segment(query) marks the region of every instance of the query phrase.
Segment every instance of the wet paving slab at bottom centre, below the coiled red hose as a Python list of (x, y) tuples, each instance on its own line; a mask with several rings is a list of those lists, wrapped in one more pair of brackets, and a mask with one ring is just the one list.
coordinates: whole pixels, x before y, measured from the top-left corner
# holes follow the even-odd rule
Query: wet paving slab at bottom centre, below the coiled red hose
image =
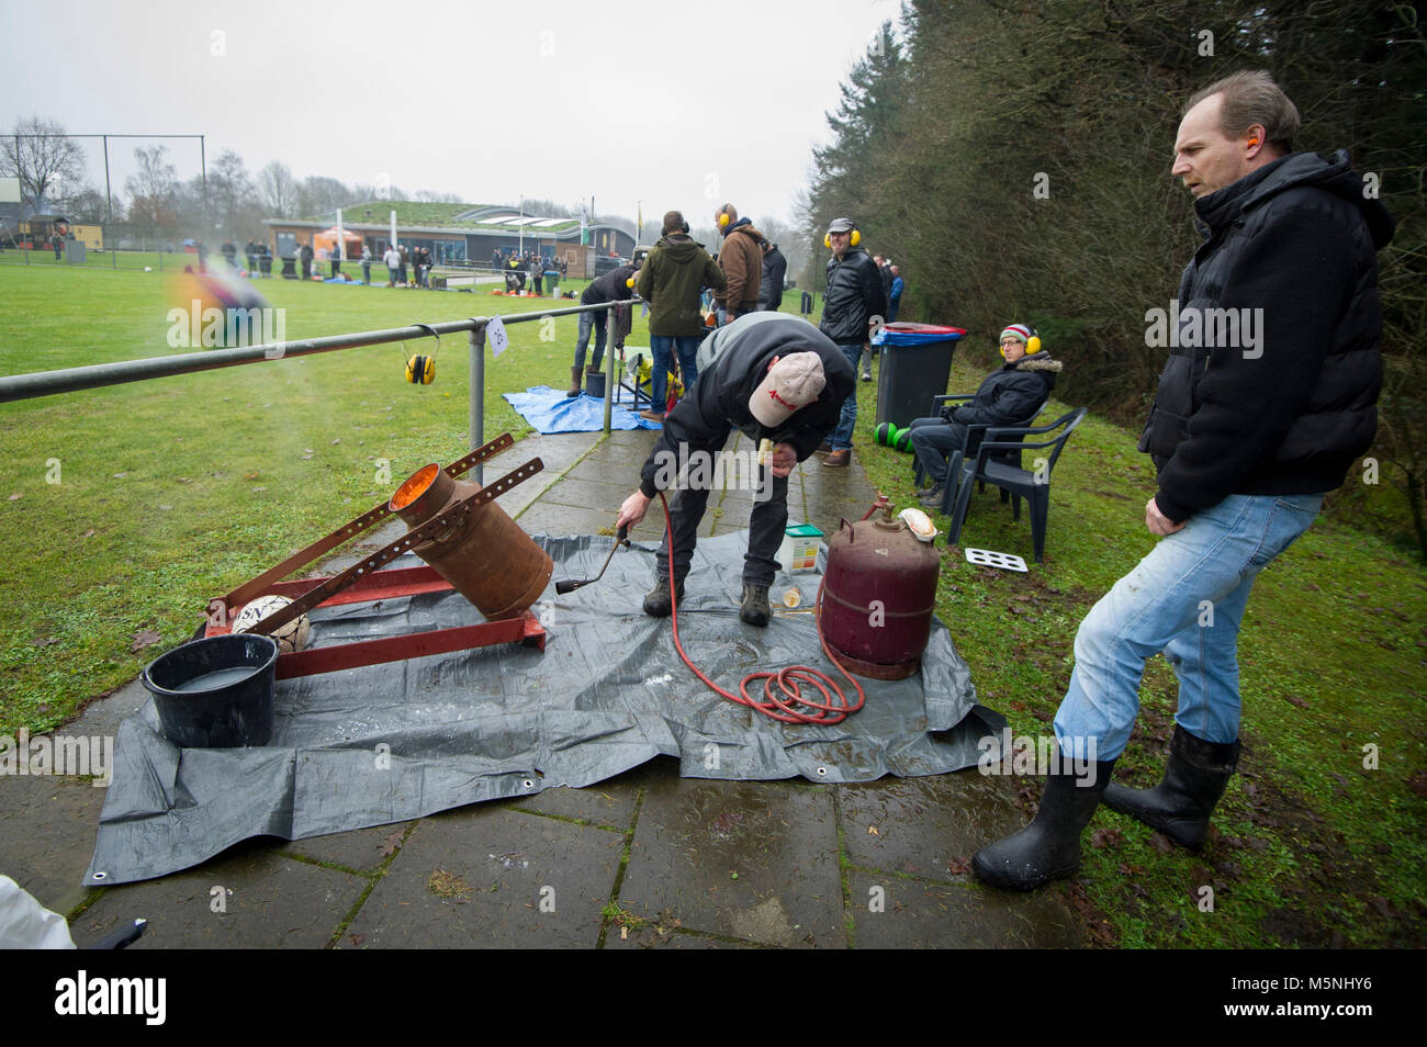
[(831, 790), (791, 782), (651, 780), (619, 907), (785, 947), (843, 944)]

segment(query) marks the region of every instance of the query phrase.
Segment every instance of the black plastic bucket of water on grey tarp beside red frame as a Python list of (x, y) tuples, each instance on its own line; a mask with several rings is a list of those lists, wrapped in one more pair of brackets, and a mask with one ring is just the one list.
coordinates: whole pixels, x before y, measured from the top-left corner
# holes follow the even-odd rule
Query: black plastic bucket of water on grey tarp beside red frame
[(277, 640), (244, 632), (174, 648), (150, 662), (141, 679), (170, 742), (233, 749), (273, 737), (275, 673)]

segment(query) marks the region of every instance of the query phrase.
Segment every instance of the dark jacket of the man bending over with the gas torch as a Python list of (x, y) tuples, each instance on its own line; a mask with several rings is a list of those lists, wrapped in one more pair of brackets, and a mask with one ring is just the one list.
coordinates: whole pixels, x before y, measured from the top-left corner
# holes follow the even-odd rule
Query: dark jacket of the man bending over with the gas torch
[[(719, 451), (733, 429), (755, 439), (789, 444), (798, 461), (806, 461), (838, 427), (842, 401), (856, 388), (856, 375), (842, 351), (798, 317), (749, 312), (722, 328), (726, 341), (714, 365), (699, 374), (694, 392), (674, 405), (664, 418), (664, 432), (645, 459), (639, 489), (654, 498), (659, 464), (675, 461), (679, 445), (689, 451)], [(776, 429), (766, 429), (748, 409), (748, 398), (768, 374), (773, 357), (816, 352), (828, 384), (808, 407), (793, 411)]]

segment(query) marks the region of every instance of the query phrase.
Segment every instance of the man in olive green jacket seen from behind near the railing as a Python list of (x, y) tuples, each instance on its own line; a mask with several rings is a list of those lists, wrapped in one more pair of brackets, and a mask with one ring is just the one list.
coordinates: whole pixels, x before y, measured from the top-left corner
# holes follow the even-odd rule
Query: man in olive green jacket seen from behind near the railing
[(678, 211), (664, 215), (664, 235), (649, 251), (635, 290), (649, 302), (649, 351), (654, 355), (649, 377), (651, 404), (641, 417), (664, 424), (668, 397), (668, 375), (672, 352), (679, 354), (679, 374), (684, 391), (694, 388), (699, 377), (694, 355), (699, 348), (704, 317), (699, 314), (699, 291), (712, 287), (722, 292), (728, 278), (708, 251), (689, 237), (689, 224)]

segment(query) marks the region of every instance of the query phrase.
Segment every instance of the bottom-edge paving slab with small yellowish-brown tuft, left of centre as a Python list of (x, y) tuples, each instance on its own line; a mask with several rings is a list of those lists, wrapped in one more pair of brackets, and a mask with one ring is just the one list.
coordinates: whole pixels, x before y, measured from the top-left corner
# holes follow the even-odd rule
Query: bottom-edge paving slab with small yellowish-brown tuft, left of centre
[(338, 947), (591, 949), (624, 836), (478, 805), (421, 819)]

